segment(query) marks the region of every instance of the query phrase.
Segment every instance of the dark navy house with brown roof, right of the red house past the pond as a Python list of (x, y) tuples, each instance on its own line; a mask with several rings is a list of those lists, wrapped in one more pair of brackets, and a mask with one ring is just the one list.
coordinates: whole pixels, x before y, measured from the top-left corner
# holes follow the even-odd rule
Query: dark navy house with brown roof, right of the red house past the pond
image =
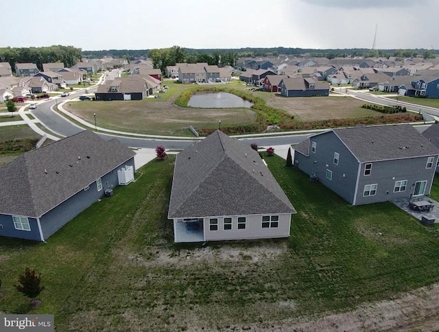
[(283, 78), (278, 84), (278, 92), (284, 97), (328, 96), (329, 84), (313, 78)]

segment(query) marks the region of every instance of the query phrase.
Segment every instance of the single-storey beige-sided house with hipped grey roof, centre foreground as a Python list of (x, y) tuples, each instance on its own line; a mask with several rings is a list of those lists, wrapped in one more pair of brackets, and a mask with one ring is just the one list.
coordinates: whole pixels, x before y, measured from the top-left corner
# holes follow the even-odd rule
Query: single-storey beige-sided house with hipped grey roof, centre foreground
[(174, 241), (289, 237), (291, 202), (259, 154), (217, 130), (176, 156)]

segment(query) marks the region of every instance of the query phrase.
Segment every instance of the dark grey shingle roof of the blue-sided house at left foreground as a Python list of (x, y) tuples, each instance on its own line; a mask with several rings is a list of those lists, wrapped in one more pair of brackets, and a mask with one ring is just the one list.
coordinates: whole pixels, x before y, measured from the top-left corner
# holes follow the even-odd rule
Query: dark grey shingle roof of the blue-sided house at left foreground
[(40, 217), (132, 156), (88, 130), (26, 152), (0, 167), (0, 213)]

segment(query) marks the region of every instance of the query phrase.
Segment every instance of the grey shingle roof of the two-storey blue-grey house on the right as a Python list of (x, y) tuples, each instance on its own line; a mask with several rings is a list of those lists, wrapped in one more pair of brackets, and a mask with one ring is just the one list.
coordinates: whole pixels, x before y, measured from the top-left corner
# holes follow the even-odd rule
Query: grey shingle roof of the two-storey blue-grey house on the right
[(360, 162), (439, 154), (438, 147), (410, 124), (333, 129)]

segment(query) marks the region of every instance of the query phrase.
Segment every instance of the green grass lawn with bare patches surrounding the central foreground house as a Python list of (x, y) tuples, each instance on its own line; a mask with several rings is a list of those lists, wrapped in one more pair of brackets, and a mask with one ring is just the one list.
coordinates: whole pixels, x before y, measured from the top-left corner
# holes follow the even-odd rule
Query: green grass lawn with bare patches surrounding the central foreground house
[(30, 312), (54, 313), (60, 331), (287, 327), (438, 281), (436, 228), (391, 203), (350, 206), (283, 159), (265, 160), (298, 211), (289, 239), (172, 244), (174, 157), (152, 161), (46, 244), (2, 239), (0, 311), (29, 311), (12, 287), (25, 267), (46, 287)]

